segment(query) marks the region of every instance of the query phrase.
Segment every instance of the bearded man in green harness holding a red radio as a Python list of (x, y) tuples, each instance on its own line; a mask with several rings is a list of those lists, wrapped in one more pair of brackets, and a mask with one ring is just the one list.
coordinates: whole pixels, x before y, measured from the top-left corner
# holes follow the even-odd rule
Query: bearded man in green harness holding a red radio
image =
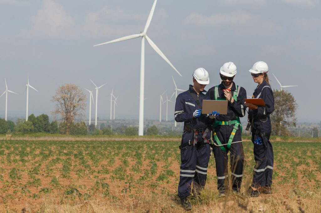
[(229, 185), (228, 153), (230, 152), (232, 190), (239, 193), (243, 171), (244, 151), (242, 145), (242, 125), (244, 117), (246, 91), (234, 83), (237, 68), (233, 62), (226, 62), (220, 70), (222, 83), (208, 90), (211, 100), (228, 100), (226, 115), (220, 114), (213, 123), (213, 153), (215, 157), (217, 188), (224, 196)]

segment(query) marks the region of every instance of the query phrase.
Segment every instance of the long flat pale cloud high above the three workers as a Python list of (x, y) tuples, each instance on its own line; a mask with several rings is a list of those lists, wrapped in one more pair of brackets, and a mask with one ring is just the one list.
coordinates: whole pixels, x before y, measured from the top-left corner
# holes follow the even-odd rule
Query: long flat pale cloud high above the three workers
[(250, 25), (255, 20), (255, 16), (236, 11), (231, 13), (216, 13), (210, 16), (193, 12), (184, 21), (187, 25), (197, 26), (229, 26), (229, 27), (242, 27)]

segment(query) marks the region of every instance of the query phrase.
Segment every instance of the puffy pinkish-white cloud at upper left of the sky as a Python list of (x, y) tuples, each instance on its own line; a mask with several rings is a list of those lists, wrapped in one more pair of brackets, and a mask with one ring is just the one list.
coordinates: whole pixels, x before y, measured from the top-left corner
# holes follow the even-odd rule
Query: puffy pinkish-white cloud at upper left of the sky
[(74, 26), (74, 20), (67, 15), (62, 5), (53, 0), (43, 0), (41, 9), (31, 17), (31, 23), (33, 24), (30, 31), (32, 35), (73, 36), (70, 29)]

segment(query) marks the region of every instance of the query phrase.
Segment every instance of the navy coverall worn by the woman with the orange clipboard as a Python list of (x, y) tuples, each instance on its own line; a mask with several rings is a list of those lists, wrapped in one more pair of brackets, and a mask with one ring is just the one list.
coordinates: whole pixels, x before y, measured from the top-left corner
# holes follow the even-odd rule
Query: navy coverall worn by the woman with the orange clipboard
[[(270, 85), (265, 80), (255, 89), (253, 98), (263, 99), (266, 105), (248, 110), (249, 119), (252, 122), (253, 153), (256, 163), (251, 186), (258, 188), (271, 186), (273, 174), (273, 147), (269, 140), (272, 127), (269, 115), (274, 111), (274, 97)], [(258, 137), (262, 138), (262, 145), (254, 143)]]

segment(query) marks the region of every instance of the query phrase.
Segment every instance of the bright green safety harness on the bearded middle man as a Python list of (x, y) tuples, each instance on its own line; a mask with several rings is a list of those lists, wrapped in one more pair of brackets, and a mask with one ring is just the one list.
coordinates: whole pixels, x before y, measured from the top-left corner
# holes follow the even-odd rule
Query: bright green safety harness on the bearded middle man
[[(233, 99), (235, 101), (237, 101), (238, 96), (239, 96), (240, 87), (238, 85), (235, 85), (235, 86), (236, 86), (236, 90), (233, 92)], [(214, 98), (215, 98), (215, 100), (226, 100), (226, 99), (219, 99), (218, 97), (219, 97), (219, 85), (215, 86)], [(229, 126), (231, 126), (233, 124), (234, 124), (233, 130), (231, 132), (229, 141), (228, 141), (228, 143), (226, 145), (227, 149), (229, 149), (229, 150), (230, 150), (233, 138), (235, 136), (235, 133), (239, 129), (239, 126), (241, 127), (241, 132), (242, 132), (242, 125), (241, 125), (241, 121), (239, 119), (239, 116), (236, 114), (236, 120), (233, 120), (233, 121), (215, 121), (214, 124), (213, 124), (213, 129), (215, 129), (215, 127), (220, 126), (220, 125), (229, 125)], [(217, 137), (216, 132), (214, 130), (213, 130), (213, 138), (216, 141), (216, 143), (220, 146), (221, 150), (223, 152), (226, 152), (225, 147), (222, 146), (222, 143), (221, 143), (220, 139)]]

